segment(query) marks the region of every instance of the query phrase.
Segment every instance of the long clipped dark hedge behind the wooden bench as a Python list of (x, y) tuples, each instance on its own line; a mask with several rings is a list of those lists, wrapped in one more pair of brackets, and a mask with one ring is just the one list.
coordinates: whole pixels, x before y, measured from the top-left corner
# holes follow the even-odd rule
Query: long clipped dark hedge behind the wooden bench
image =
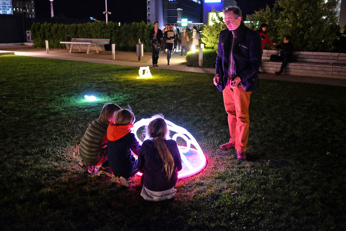
[(34, 46), (45, 47), (45, 40), (49, 47), (66, 48), (60, 41), (70, 42), (72, 38), (110, 39), (117, 50), (135, 51), (138, 39), (144, 45), (144, 51), (150, 52), (149, 32), (154, 27), (145, 22), (133, 22), (119, 26), (115, 22), (88, 22), (84, 24), (52, 24), (34, 23), (31, 27)]

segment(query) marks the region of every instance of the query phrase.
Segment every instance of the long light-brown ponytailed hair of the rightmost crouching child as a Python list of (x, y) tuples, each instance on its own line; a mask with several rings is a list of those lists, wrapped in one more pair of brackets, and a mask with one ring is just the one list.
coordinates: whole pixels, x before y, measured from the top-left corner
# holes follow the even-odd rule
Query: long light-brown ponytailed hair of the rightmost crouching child
[(156, 115), (155, 117), (158, 118), (151, 121), (147, 127), (147, 135), (153, 138), (154, 146), (159, 151), (160, 157), (164, 162), (164, 168), (162, 171), (165, 170), (167, 179), (170, 180), (174, 170), (174, 160), (170, 150), (168, 150), (165, 142), (163, 141), (166, 139), (169, 131), (163, 116)]

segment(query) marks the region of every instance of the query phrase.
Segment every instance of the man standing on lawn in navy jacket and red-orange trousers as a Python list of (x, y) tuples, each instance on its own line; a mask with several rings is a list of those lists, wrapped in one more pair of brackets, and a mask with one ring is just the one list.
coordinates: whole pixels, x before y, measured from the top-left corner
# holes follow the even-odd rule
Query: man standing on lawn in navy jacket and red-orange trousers
[(237, 158), (245, 160), (250, 95), (259, 86), (262, 46), (259, 33), (242, 22), (239, 8), (226, 7), (223, 13), (228, 30), (219, 35), (214, 84), (223, 95), (230, 139), (220, 148), (235, 147)]

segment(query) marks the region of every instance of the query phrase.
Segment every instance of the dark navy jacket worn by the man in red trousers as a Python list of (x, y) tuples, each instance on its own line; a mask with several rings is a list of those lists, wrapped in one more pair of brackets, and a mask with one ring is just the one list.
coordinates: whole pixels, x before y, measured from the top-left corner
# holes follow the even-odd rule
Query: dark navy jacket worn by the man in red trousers
[[(230, 65), (230, 51), (232, 45), (232, 32), (228, 29), (220, 32), (218, 39), (215, 75), (220, 75), (216, 86), (222, 92), (226, 87)], [(233, 41), (233, 59), (235, 74), (241, 79), (240, 85), (246, 92), (255, 91), (259, 86), (259, 66), (261, 62), (260, 35), (241, 22), (238, 35)], [(234, 78), (233, 78), (234, 79)]]

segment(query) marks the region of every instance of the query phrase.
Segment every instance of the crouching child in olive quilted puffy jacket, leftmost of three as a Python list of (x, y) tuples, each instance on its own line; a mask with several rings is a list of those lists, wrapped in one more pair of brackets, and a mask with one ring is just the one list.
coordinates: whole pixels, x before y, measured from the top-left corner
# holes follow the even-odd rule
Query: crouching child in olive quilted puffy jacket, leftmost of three
[(82, 160), (78, 165), (88, 173), (95, 173), (95, 167), (101, 165), (97, 175), (112, 177), (112, 171), (107, 161), (107, 128), (114, 121), (115, 113), (121, 107), (114, 103), (103, 105), (100, 117), (88, 126), (79, 145), (79, 154)]

